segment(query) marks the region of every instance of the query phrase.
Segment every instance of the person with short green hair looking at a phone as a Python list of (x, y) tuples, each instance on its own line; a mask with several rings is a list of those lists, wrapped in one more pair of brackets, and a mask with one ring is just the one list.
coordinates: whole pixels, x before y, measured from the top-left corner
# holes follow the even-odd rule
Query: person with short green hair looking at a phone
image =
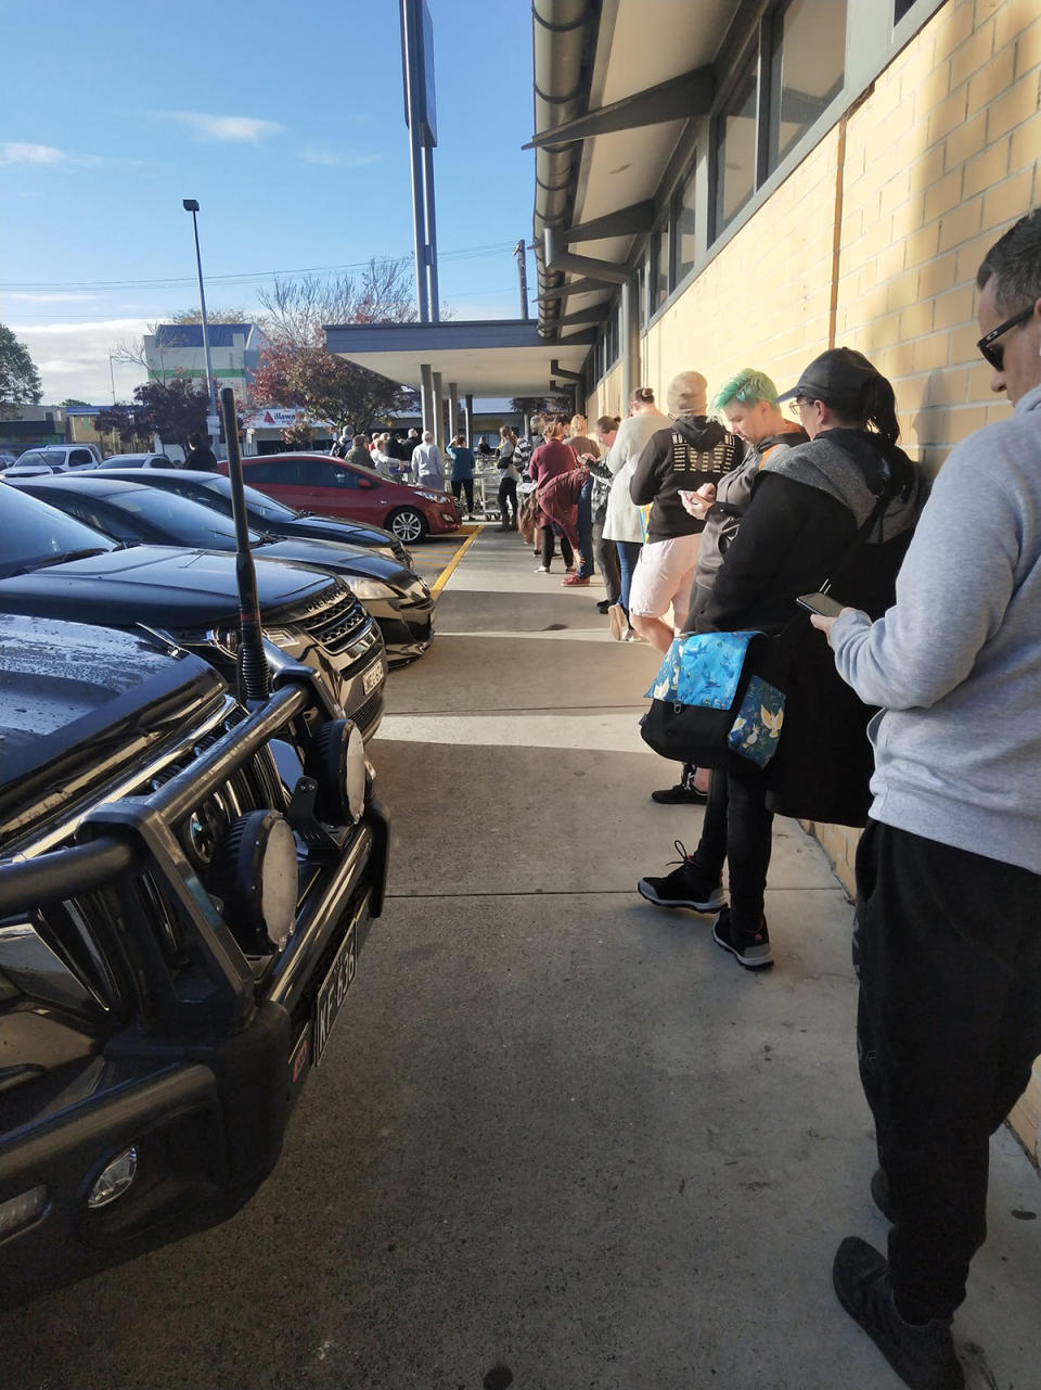
[[(777, 386), (764, 371), (742, 367), (720, 386), (712, 399), (712, 409), (721, 410), (727, 417), (731, 434), (745, 442), (745, 456), (731, 473), (719, 482), (706, 482), (694, 496), (684, 499), (687, 510), (705, 520), (698, 569), (691, 589), (691, 603), (687, 609), (687, 630), (692, 631), (694, 620), (709, 602), (712, 584), (723, 556), (738, 534), (741, 517), (752, 500), (752, 484), (766, 459), (776, 452), (803, 443), (806, 434), (791, 420), (785, 420), (777, 404)], [(684, 770), (675, 787), (663, 787), (650, 792), (650, 799), (666, 806), (703, 805), (709, 790), (705, 771), (699, 774), (692, 763), (684, 763)], [(641, 880), (648, 883), (649, 880)], [(641, 888), (641, 892), (644, 890)], [(648, 894), (644, 894), (648, 897)], [(653, 898), (650, 899), (655, 901)]]

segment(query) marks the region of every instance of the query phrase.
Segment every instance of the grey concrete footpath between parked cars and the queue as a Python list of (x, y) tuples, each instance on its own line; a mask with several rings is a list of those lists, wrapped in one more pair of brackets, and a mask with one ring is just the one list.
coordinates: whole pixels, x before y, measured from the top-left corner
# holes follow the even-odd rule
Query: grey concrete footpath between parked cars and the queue
[[(884, 1247), (851, 906), (778, 821), (771, 972), (635, 892), (700, 812), (637, 720), (657, 666), (486, 528), (372, 756), (391, 898), (274, 1177), (227, 1226), (0, 1318), (13, 1387), (896, 1390), (839, 1309)], [(1041, 1186), (992, 1145), (956, 1323), (1041, 1383)], [(17, 1348), (17, 1350), (15, 1350)]]

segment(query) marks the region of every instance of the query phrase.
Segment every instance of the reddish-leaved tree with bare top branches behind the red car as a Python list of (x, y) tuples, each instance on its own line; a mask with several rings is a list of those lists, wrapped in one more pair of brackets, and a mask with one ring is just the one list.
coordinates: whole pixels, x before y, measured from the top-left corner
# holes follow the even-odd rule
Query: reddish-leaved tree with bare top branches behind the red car
[(297, 428), (328, 420), (368, 431), (388, 414), (416, 409), (414, 391), (329, 353), (324, 334), (325, 324), (413, 322), (406, 261), (372, 260), (360, 281), (275, 277), (257, 297), (267, 311), (261, 328), (268, 346), (253, 377), (256, 400), (303, 410)]

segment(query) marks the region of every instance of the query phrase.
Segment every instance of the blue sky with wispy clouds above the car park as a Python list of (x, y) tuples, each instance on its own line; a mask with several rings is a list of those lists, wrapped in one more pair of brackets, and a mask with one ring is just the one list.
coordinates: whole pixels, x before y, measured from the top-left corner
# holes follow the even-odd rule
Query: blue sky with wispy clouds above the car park
[[(441, 300), (516, 317), (531, 11), (428, 3)], [(110, 400), (110, 349), (197, 304), (183, 197), (202, 208), (210, 310), (257, 307), (274, 271), (411, 256), (396, 0), (8, 0), (3, 38), (0, 321), (44, 402)], [(142, 374), (114, 370), (129, 399)]]

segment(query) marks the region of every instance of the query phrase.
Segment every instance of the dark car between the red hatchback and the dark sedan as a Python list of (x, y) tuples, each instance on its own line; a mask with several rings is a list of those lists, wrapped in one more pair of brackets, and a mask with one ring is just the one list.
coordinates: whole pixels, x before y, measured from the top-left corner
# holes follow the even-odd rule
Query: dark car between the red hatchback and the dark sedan
[[(99, 468), (99, 477), (125, 478), (139, 482), (135, 471), (122, 473), (111, 467), (111, 459), (106, 460), (104, 468)], [(165, 492), (177, 492), (179, 498), (190, 498), (192, 502), (202, 502), (213, 507), (222, 516), (229, 517), (231, 510), (231, 481), (220, 473), (200, 473), (183, 468), (151, 468), (149, 471), (149, 486), (163, 488)], [(375, 549), (388, 560), (397, 560), (406, 570), (411, 570), (411, 552), (406, 550), (402, 542), (391, 531), (384, 531), (378, 525), (364, 525), (361, 521), (345, 521), (342, 517), (317, 517), (311, 512), (296, 512), (293, 507), (275, 502), (256, 488), (245, 488), (246, 516), (249, 524), (257, 531), (267, 531), (268, 535), (293, 537), (306, 535), (314, 541), (339, 541), (342, 545), (364, 545)]]

